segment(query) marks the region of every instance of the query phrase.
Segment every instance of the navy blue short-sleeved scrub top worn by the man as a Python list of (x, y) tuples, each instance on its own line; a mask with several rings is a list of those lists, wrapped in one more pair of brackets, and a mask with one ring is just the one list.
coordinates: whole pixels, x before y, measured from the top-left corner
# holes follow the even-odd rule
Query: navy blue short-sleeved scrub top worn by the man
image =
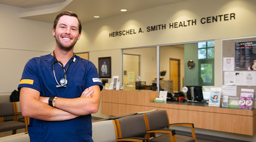
[[(86, 88), (93, 85), (99, 85), (102, 90), (95, 65), (77, 55), (66, 73), (67, 87), (56, 88), (58, 84), (52, 70), (53, 61), (51, 54), (30, 59), (24, 67), (18, 90), (21, 87), (29, 87), (38, 90), (40, 96), (55, 95), (61, 98), (78, 98)], [(69, 62), (65, 65), (65, 70)], [(59, 82), (64, 76), (64, 70), (58, 63), (54, 64), (54, 70)], [(58, 122), (30, 118), (28, 131), (32, 142), (93, 142), (90, 114)]]

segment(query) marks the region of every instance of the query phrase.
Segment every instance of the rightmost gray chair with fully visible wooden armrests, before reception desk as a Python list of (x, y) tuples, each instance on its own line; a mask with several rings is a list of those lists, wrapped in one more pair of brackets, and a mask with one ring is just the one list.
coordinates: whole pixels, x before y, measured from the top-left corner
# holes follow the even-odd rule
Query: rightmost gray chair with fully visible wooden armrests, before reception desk
[[(195, 129), (194, 125), (191, 123), (177, 123), (177, 124), (169, 124), (169, 118), (166, 110), (157, 110), (150, 113), (145, 113), (146, 122), (147, 122), (147, 132), (148, 133), (168, 133), (160, 136), (154, 136), (154, 138), (150, 139), (150, 142), (196, 142), (195, 138)], [(170, 126), (174, 125), (183, 125), (190, 126), (192, 131), (192, 137), (182, 136), (182, 135), (174, 135), (175, 133), (169, 133), (168, 130)], [(149, 139), (149, 137), (148, 137)]]

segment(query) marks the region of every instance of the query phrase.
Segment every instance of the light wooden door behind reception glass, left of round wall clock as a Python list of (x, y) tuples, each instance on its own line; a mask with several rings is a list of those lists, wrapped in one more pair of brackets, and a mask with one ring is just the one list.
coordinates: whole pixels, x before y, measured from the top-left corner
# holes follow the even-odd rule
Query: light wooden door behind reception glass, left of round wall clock
[(173, 91), (180, 90), (180, 60), (170, 58), (170, 80), (173, 82)]

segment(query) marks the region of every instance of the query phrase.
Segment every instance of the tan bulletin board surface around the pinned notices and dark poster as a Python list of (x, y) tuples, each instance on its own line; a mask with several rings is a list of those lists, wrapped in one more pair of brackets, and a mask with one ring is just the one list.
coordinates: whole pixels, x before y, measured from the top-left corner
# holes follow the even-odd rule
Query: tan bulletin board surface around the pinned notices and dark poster
[[(243, 39), (233, 39), (233, 40), (223, 40), (222, 41), (222, 61), (225, 57), (233, 57), (235, 59), (235, 67), (236, 67), (236, 43), (240, 42), (252, 42), (256, 41), (256, 38), (243, 38)], [(223, 64), (223, 63), (222, 63)], [(250, 70), (236, 70), (234, 67), (234, 71), (250, 71)], [(255, 70), (254, 70), (255, 71)], [(224, 71), (222, 67), (222, 85), (224, 85)], [(239, 98), (241, 94), (241, 88), (244, 89), (254, 89), (254, 99), (256, 99), (256, 86), (236, 86), (236, 97)], [(231, 96), (230, 96), (231, 97)]]

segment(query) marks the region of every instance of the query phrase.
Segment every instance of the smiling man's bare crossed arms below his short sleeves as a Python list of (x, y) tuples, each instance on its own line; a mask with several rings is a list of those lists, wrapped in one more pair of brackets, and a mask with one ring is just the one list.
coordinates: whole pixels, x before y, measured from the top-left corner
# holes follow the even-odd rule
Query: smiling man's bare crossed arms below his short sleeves
[(48, 104), (49, 97), (41, 97), (37, 90), (22, 87), (20, 89), (20, 107), (23, 116), (46, 121), (63, 121), (81, 115), (96, 113), (100, 103), (98, 85), (84, 90), (80, 98), (57, 98), (55, 107)]

